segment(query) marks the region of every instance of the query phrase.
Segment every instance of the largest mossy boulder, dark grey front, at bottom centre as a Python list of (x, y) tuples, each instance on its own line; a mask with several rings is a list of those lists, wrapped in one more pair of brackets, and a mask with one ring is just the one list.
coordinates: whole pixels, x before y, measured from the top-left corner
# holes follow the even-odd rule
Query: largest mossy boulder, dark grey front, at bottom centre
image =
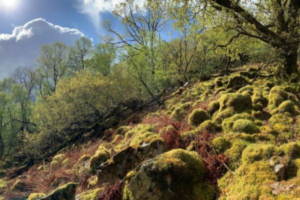
[(134, 199), (213, 199), (214, 192), (204, 183), (204, 175), (197, 153), (174, 149), (142, 164), (127, 189)]

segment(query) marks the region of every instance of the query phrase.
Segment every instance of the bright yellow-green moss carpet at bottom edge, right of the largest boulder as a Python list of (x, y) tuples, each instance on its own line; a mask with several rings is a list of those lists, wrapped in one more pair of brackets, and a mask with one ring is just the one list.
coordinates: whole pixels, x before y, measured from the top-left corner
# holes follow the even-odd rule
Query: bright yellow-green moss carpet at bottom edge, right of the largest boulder
[(267, 161), (256, 161), (241, 165), (234, 173), (218, 180), (220, 190), (224, 191), (219, 199), (249, 200), (259, 199), (265, 192), (265, 184), (277, 180), (277, 176)]

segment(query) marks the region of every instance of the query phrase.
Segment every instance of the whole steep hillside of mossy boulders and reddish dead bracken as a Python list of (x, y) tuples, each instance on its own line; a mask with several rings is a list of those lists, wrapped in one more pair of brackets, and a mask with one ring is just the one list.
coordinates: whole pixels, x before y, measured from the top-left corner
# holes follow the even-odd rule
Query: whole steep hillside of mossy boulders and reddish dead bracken
[(65, 148), (16, 178), (8, 173), (0, 195), (299, 199), (300, 81), (260, 69), (169, 88), (165, 104), (138, 123)]

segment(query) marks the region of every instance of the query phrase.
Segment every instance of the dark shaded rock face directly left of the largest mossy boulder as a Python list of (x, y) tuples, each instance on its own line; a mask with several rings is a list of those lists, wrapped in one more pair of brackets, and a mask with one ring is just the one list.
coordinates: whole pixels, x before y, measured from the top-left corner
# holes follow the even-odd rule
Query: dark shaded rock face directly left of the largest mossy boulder
[(114, 183), (146, 158), (155, 157), (166, 150), (163, 140), (142, 143), (138, 147), (128, 146), (117, 152), (98, 167), (98, 183)]

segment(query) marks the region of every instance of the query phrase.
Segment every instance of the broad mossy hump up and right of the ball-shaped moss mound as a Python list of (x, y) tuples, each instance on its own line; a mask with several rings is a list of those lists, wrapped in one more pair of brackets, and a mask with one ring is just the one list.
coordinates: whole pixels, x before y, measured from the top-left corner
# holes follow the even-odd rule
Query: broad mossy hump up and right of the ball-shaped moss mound
[(252, 100), (250, 95), (240, 93), (228, 93), (219, 98), (220, 109), (232, 108), (236, 112), (242, 112), (252, 108)]

